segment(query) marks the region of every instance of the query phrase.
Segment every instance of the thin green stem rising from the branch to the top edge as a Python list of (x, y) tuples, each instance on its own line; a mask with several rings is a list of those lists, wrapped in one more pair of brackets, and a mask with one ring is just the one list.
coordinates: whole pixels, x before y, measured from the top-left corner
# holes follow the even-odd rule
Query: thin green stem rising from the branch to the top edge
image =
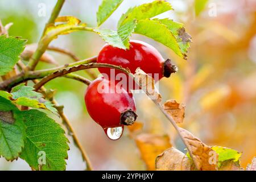
[(45, 33), (47, 27), (49, 26), (49, 24), (54, 23), (57, 16), (59, 16), (60, 10), (63, 7), (64, 2), (65, 2), (65, 0), (58, 0), (55, 7), (53, 8), (52, 14), (51, 14), (51, 16), (48, 20), (48, 23), (44, 27), (43, 34), (42, 34), (42, 36), (40, 38), (40, 41), (38, 43), (38, 48), (36, 49), (35, 53), (32, 55), (30, 61), (27, 64), (27, 69), (28, 70), (34, 70), (36, 65), (39, 62), (40, 57), (43, 55), (44, 52), (46, 52), (46, 48), (48, 47), (49, 43), (47, 44), (47, 43), (43, 42), (44, 33)]

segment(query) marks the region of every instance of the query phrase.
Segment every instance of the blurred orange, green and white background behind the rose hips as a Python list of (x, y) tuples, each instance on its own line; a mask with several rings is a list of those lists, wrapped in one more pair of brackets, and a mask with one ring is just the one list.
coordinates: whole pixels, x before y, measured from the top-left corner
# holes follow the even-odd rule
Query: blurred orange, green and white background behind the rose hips
[[(55, 2), (1, 0), (0, 19), (3, 24), (14, 23), (10, 28), (10, 35), (28, 39), (28, 44), (36, 43)], [(146, 2), (151, 1), (123, 1), (102, 27), (115, 30), (122, 13), (129, 7)], [(185, 24), (193, 42), (188, 60), (180, 59), (171, 49), (154, 40), (140, 35), (133, 35), (132, 39), (152, 44), (164, 59), (171, 58), (179, 67), (175, 75), (160, 80), (159, 91), (163, 101), (174, 99), (186, 106), (185, 119), (180, 126), (208, 145), (241, 151), (241, 166), (246, 167), (256, 156), (256, 1), (168, 2), (175, 11), (168, 11), (158, 17), (168, 17)], [(100, 3), (101, 0), (67, 0), (60, 15), (74, 15), (95, 27)], [(44, 5), (46, 16), (39, 14), (39, 9)], [(59, 36), (51, 46), (69, 49), (80, 59), (85, 59), (97, 55), (104, 44), (92, 32), (73, 32)], [(72, 62), (67, 56), (48, 53), (60, 65)], [(50, 67), (52, 65), (40, 63), (37, 69)], [(98, 74), (97, 70), (94, 72)], [(84, 72), (79, 73), (89, 78)], [(64, 112), (88, 152), (94, 169), (154, 169), (154, 161), (148, 159), (150, 152), (154, 153), (150, 147), (154, 146), (160, 146), (160, 150), (157, 150), (159, 154), (170, 145), (185, 152), (183, 143), (170, 123), (144, 94), (134, 95), (139, 115), (138, 124), (130, 130), (125, 128), (122, 138), (112, 141), (86, 112), (85, 85), (67, 78), (57, 78), (46, 86), (56, 90), (55, 98), (60, 105), (64, 105)], [(54, 115), (51, 117), (61, 123), (60, 118)], [(163, 139), (170, 144), (162, 146)], [(84, 170), (85, 164), (80, 151), (74, 146), (71, 137), (69, 140), (71, 150), (68, 151), (67, 169)], [(146, 145), (143, 146), (143, 143)], [(152, 155), (155, 158), (158, 154)], [(30, 170), (30, 167), (22, 159), (11, 163), (0, 158), (0, 170)]]

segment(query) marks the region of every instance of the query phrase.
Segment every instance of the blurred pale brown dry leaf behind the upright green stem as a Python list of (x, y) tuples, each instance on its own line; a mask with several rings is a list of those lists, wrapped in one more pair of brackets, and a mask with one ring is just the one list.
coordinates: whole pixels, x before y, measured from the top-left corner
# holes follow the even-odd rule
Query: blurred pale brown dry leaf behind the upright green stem
[[(20, 57), (23, 60), (29, 60), (32, 57), (32, 55), (34, 54), (34, 52), (36, 51), (36, 47), (37, 47), (37, 44), (27, 45), (26, 48), (24, 49), (24, 51), (22, 52), (22, 54), (20, 55)], [(40, 61), (49, 63), (49, 64), (58, 65), (56, 60), (48, 53), (44, 53), (42, 55), (42, 57), (40, 57)]]

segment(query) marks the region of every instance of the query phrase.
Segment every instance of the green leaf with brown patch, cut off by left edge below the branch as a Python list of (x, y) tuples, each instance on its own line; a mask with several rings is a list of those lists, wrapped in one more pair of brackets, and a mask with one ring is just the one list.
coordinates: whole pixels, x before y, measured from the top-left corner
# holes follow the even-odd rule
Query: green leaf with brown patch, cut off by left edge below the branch
[(0, 156), (6, 160), (17, 159), (24, 147), (26, 126), (18, 108), (0, 97)]

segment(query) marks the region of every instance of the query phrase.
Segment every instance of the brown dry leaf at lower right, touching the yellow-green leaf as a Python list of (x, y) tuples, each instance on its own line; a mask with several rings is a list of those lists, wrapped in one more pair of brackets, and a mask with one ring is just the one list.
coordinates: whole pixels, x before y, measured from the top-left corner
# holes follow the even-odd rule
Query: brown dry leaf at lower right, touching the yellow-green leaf
[(188, 150), (192, 153), (191, 158), (196, 168), (201, 171), (217, 171), (218, 154), (189, 131), (181, 127), (179, 127), (179, 131), (189, 147)]

